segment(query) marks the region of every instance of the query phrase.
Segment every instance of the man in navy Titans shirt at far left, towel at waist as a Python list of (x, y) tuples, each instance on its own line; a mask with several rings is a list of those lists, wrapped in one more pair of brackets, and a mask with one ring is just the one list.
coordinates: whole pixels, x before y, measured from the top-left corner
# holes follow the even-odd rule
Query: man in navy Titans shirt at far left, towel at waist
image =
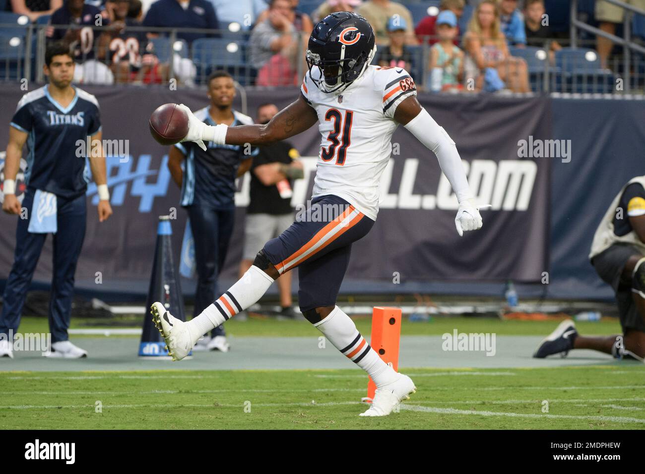
[[(99, 104), (94, 95), (72, 87), (74, 59), (69, 47), (53, 43), (45, 52), (49, 84), (23, 95), (9, 127), (6, 148), (3, 210), (20, 216), (15, 260), (3, 295), (0, 333), (15, 334), (29, 287), (48, 233), (54, 233), (54, 275), (49, 325), (54, 357), (86, 357), (68, 341), (67, 328), (74, 295), (74, 273), (83, 246), (89, 170), (85, 147), (92, 139), (90, 168), (99, 193), (99, 221), (112, 214), (106, 185)], [(98, 141), (98, 142), (97, 142)], [(26, 191), (22, 204), (15, 197), (15, 177), (27, 144)], [(81, 153), (79, 153), (81, 150)], [(94, 156), (99, 155), (99, 156)], [(11, 342), (0, 341), (0, 357), (12, 356)]]

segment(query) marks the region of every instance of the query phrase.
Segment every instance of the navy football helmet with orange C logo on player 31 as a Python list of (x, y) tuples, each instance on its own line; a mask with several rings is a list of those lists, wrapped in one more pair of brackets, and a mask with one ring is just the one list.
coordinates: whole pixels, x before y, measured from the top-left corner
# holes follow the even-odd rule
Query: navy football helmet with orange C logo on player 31
[[(374, 32), (366, 19), (352, 12), (332, 13), (309, 37), (309, 77), (322, 92), (341, 91), (361, 77), (375, 53)], [(317, 69), (312, 72), (313, 66)]]

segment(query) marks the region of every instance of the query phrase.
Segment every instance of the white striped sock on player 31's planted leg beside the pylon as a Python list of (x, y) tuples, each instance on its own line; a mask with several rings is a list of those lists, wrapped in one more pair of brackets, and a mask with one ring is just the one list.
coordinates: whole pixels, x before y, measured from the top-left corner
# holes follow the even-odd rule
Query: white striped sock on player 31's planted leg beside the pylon
[(363, 339), (352, 319), (338, 306), (323, 321), (313, 326), (321, 331), (335, 348), (366, 371), (377, 387), (397, 380), (397, 373)]

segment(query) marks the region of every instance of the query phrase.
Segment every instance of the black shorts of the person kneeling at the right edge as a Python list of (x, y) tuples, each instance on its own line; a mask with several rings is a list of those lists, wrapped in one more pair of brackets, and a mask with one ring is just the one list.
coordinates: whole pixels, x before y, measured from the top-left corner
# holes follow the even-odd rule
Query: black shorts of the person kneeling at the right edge
[(645, 321), (632, 298), (631, 281), (621, 278), (625, 264), (633, 255), (643, 256), (638, 248), (630, 244), (613, 244), (591, 259), (600, 278), (613, 288), (623, 333), (628, 329), (645, 332)]

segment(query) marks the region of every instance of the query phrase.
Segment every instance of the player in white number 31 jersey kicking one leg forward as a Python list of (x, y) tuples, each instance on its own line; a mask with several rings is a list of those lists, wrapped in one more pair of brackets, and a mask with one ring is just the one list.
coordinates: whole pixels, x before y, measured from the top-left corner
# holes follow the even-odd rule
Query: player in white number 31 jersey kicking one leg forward
[(350, 12), (333, 13), (315, 26), (309, 39), (309, 71), (301, 94), (268, 124), (207, 126), (184, 106), (190, 118), (184, 141), (200, 146), (204, 141), (262, 145), (297, 135), (315, 123), (322, 140), (312, 204), (304, 219), (266, 242), (248, 272), (191, 321), (179, 321), (163, 304), (153, 304), (153, 319), (174, 360), (186, 357), (202, 335), (258, 301), (281, 273), (298, 267), (304, 317), (377, 386), (372, 405), (362, 415), (389, 415), (415, 391), (410, 377), (381, 360), (352, 319), (336, 306), (352, 242), (366, 235), (376, 219), (379, 179), (399, 124), (437, 155), (459, 201), (455, 217), (459, 235), (481, 228), (482, 218), (455, 143), (421, 107), (415, 83), (405, 70), (370, 65), (375, 51), (366, 19)]

